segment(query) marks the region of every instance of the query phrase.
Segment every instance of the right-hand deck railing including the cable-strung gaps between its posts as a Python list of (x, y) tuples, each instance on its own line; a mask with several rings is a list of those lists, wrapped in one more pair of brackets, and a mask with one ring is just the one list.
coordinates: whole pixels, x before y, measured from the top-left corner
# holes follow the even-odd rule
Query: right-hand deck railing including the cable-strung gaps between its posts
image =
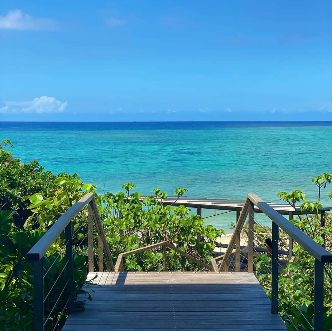
[[(290, 324), (294, 330), (303, 330), (301, 323), (305, 326), (306, 330), (313, 329), (314, 331), (323, 330), (323, 300), (324, 300), (324, 264), (332, 262), (332, 254), (328, 252), (325, 248), (316, 243), (313, 239), (304, 234), (299, 228), (290, 223), (285, 217), (279, 214), (275, 209), (269, 206), (266, 202), (262, 201), (255, 194), (248, 194), (247, 199), (243, 204), (241, 213), (237, 215), (237, 224), (234, 229), (233, 236), (230, 240), (226, 252), (222, 257), (216, 257), (212, 259), (212, 267), (214, 271), (240, 271), (240, 259), (241, 262), (247, 259), (247, 264), (244, 268), (241, 268), (248, 271), (257, 273), (256, 264), (262, 260), (261, 251), (257, 250), (257, 244), (254, 242), (256, 239), (259, 242), (264, 242), (263, 233), (256, 233), (254, 223), (257, 223), (262, 227), (259, 222), (254, 218), (254, 206), (256, 206), (260, 212), (265, 213), (272, 220), (272, 231), (271, 231), (271, 241), (272, 247), (270, 250), (270, 260), (271, 262), (265, 263), (265, 276), (260, 271), (258, 277), (264, 280), (263, 284), (266, 285), (266, 289), (271, 296), (271, 312), (273, 314), (281, 313), (284, 316), (284, 321)], [(247, 253), (243, 254), (240, 250), (240, 241), (243, 239), (244, 233), (244, 224), (249, 215), (249, 220), (247, 224), (247, 238), (246, 243)], [(241, 237), (242, 233), (242, 237)], [(286, 261), (286, 270), (285, 265), (279, 260), (280, 254), (285, 254), (285, 251), (280, 251), (279, 248), (283, 248), (286, 251), (292, 253), (290, 247), (287, 247), (285, 244), (285, 238), (283, 236), (287, 234), (290, 237), (290, 243), (296, 243), (307, 256), (310, 256), (314, 259), (314, 268), (310, 274), (310, 267), (304, 268), (299, 263), (294, 261), (293, 256), (290, 256), (291, 261)], [(270, 234), (269, 234), (270, 235)], [(281, 235), (281, 237), (280, 237)], [(280, 244), (280, 240), (281, 243)], [(259, 246), (259, 245), (258, 245)], [(235, 254), (233, 249), (235, 248)], [(260, 257), (261, 256), (261, 257)], [(234, 263), (235, 257), (235, 263)], [(221, 263), (218, 265), (216, 262), (221, 260)], [(265, 259), (264, 259), (265, 260)], [(270, 264), (271, 263), (271, 264)], [(261, 265), (261, 264), (260, 264)], [(288, 267), (287, 267), (288, 266)], [(313, 289), (313, 295), (309, 293), (310, 291), (305, 290), (304, 292), (299, 284), (296, 283), (298, 280), (297, 276), (294, 276), (294, 269), (292, 266), (296, 266), (297, 270), (300, 270), (302, 273), (305, 273), (305, 280), (309, 283), (307, 286), (309, 289)], [(279, 274), (279, 269), (281, 269), (281, 274)], [(285, 271), (285, 272), (284, 272)], [(327, 272), (327, 271), (326, 271)], [(286, 280), (286, 283), (289, 286), (284, 289), (282, 284), (280, 284), (280, 277), (284, 277), (283, 280)], [(311, 315), (305, 313), (298, 306), (292, 306), (291, 303), (295, 296), (300, 296), (303, 303), (309, 305), (312, 304), (312, 315), (313, 321), (311, 321)], [(287, 309), (285, 309), (285, 305)], [(308, 306), (307, 306), (308, 308)], [(291, 311), (291, 313), (290, 313)], [(300, 317), (302, 321), (294, 322), (294, 317), (292, 313)]]

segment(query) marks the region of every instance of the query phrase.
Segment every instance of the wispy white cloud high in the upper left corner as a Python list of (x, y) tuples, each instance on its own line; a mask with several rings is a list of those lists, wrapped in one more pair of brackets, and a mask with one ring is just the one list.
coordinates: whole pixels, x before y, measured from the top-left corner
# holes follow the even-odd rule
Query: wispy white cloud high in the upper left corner
[(0, 15), (0, 28), (13, 30), (54, 30), (56, 22), (50, 19), (35, 19), (20, 9), (10, 10), (7, 16)]

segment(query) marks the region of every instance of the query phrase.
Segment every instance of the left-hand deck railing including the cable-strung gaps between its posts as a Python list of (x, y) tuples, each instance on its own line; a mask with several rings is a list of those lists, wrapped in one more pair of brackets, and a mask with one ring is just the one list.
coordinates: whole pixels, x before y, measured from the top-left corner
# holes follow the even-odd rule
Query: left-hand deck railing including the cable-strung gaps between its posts
[[(87, 211), (85, 207), (88, 207)], [(80, 215), (82, 224), (73, 232), (71, 220), (77, 215)], [(88, 226), (84, 228), (86, 221), (83, 218), (86, 216)], [(94, 222), (95, 227), (93, 226)], [(98, 260), (93, 246), (94, 229), (98, 236)], [(87, 230), (84, 231), (86, 232), (84, 236), (82, 234), (83, 230)], [(54, 260), (46, 270), (44, 260), (47, 259), (48, 262), (47, 251), (55, 241), (58, 241), (59, 237), (61, 238), (63, 232), (65, 253), (57, 252), (57, 256), (50, 255), (49, 257)], [(58, 242), (61, 244), (61, 240)], [(56, 330), (60, 328), (63, 315), (74, 311), (74, 286), (76, 283), (74, 284), (73, 279), (73, 263), (75, 263), (78, 254), (87, 256), (82, 268), (88, 268), (89, 272), (97, 270), (96, 266), (102, 267), (100, 271), (104, 270), (104, 256), (107, 268), (114, 271), (111, 253), (107, 246), (94, 194), (92, 193), (84, 195), (70, 207), (27, 254), (28, 260), (34, 261), (34, 330), (44, 330), (44, 328)], [(96, 258), (96, 263), (94, 258)], [(63, 265), (61, 265), (62, 261)], [(54, 275), (51, 270), (54, 266), (57, 266), (56, 262), (61, 265), (61, 270)], [(85, 281), (82, 280), (83, 274), (86, 274), (86, 272), (81, 273), (80, 283), (77, 284)], [(46, 289), (46, 287), (49, 287), (49, 289)], [(46, 295), (45, 290), (47, 291)], [(48, 311), (46, 312), (46, 310)]]

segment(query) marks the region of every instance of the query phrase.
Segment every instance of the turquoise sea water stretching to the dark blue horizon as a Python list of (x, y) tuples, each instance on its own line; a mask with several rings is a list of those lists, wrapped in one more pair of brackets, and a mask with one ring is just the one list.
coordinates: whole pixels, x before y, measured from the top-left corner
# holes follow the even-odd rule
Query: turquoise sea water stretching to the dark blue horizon
[[(143, 194), (186, 187), (188, 196), (250, 192), (279, 202), (278, 192), (301, 189), (314, 199), (311, 178), (332, 172), (332, 122), (0, 122), (0, 130), (14, 156), (77, 172), (99, 193), (133, 182)], [(226, 232), (234, 220), (233, 212), (207, 218)]]

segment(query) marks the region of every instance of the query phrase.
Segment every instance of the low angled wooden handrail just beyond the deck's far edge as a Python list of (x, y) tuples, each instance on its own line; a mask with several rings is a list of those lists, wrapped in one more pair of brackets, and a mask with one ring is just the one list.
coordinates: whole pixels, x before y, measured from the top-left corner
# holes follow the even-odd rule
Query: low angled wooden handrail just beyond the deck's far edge
[(144, 247), (141, 247), (141, 248), (137, 248), (137, 249), (129, 250), (127, 252), (120, 253), (118, 255), (118, 259), (117, 259), (117, 262), (115, 264), (115, 271), (124, 271), (124, 257), (125, 256), (133, 255), (133, 254), (143, 252), (145, 250), (150, 250), (150, 249), (153, 249), (153, 248), (157, 248), (157, 247), (163, 247), (164, 271), (167, 271), (167, 267), (166, 267), (166, 247), (168, 247), (169, 249), (175, 250), (176, 252), (178, 252), (182, 256), (185, 256), (186, 258), (188, 258), (189, 260), (192, 260), (193, 262), (199, 264), (203, 268), (205, 268), (209, 271), (212, 271), (212, 268), (209, 265), (207, 265), (206, 263), (200, 261), (196, 257), (191, 256), (190, 254), (182, 251), (181, 249), (175, 247), (174, 245), (170, 244), (167, 241), (162, 241), (160, 243), (156, 243), (156, 244), (152, 244), (152, 245), (149, 245), (149, 246), (144, 246)]

